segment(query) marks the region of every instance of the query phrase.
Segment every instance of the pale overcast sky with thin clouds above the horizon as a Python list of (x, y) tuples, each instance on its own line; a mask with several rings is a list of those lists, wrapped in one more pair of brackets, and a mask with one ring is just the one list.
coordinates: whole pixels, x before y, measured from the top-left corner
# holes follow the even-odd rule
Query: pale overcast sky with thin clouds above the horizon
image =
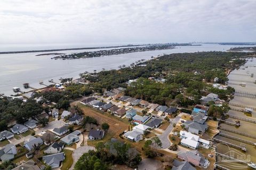
[(256, 1), (1, 0), (0, 45), (256, 41)]

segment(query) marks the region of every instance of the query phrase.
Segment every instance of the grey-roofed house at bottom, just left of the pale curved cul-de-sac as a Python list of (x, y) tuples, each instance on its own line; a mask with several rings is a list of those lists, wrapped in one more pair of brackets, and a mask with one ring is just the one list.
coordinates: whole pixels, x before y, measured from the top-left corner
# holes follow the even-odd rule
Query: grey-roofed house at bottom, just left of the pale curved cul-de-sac
[(64, 152), (43, 156), (44, 163), (51, 166), (52, 168), (60, 167), (64, 159), (65, 159)]

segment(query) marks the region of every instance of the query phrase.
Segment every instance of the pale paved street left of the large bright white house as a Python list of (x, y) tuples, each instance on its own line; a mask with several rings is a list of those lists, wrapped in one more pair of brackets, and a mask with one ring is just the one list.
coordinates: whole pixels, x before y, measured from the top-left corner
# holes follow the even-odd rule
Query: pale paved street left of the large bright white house
[(163, 145), (162, 145), (162, 149), (166, 149), (169, 148), (171, 146), (171, 142), (169, 140), (169, 134), (171, 133), (171, 131), (173, 130), (173, 123), (178, 124), (179, 120), (180, 120), (180, 116), (178, 115), (177, 117), (174, 118), (174, 120), (170, 120), (170, 125), (166, 128), (166, 130), (164, 131), (164, 133), (162, 133), (161, 135), (158, 135), (159, 139), (162, 141)]

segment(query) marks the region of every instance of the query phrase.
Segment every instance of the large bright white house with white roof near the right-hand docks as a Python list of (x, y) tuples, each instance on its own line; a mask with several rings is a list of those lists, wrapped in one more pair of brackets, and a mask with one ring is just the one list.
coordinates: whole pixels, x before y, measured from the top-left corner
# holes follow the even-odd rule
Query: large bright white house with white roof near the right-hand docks
[(198, 135), (192, 134), (191, 132), (180, 131), (180, 138), (181, 145), (191, 149), (196, 149), (199, 145), (207, 149), (210, 147), (209, 141), (201, 139)]

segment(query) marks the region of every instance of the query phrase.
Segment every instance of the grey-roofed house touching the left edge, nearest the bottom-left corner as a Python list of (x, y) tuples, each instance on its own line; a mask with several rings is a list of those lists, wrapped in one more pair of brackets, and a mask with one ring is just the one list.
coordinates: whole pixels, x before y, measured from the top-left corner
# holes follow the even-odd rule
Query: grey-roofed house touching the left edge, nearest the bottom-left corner
[(3, 148), (0, 149), (0, 159), (2, 160), (2, 162), (13, 159), (14, 155), (16, 154), (17, 149), (12, 143), (5, 145)]

